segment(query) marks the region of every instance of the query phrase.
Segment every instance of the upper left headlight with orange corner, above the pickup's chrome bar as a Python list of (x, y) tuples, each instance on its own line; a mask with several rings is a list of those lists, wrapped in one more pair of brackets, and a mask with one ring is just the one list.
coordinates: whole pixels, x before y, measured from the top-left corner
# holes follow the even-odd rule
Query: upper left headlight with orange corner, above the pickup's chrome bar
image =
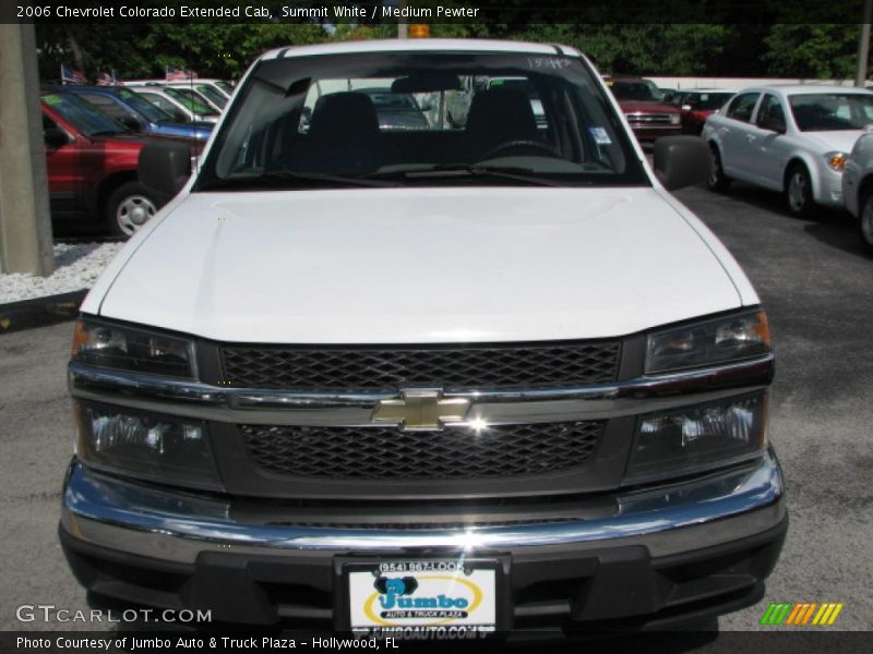
[(194, 377), (192, 341), (96, 320), (75, 324), (72, 359), (96, 367)]

